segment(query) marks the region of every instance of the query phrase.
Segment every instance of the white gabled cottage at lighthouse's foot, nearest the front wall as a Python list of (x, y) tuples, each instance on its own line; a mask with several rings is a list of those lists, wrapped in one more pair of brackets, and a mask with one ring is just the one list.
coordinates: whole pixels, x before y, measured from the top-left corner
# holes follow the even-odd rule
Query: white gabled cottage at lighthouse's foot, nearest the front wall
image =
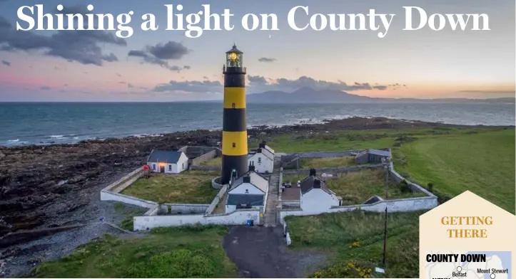
[(250, 166), (249, 172), (238, 177), (231, 184), (226, 200), (226, 213), (237, 209), (257, 209), (265, 206), (269, 181), (255, 172)]

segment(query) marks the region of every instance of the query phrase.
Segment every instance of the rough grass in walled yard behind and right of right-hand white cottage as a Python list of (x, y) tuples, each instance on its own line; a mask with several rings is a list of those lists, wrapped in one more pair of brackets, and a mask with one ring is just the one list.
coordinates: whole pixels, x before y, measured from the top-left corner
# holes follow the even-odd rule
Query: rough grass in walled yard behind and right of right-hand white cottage
[[(306, 177), (305, 174), (285, 175), (283, 181), (295, 183)], [(385, 199), (385, 171), (383, 169), (365, 169), (360, 172), (338, 174), (337, 177), (326, 179), (328, 189), (343, 198), (343, 205), (362, 204), (371, 196), (381, 196)], [(410, 198), (425, 196), (413, 193), (403, 184), (389, 183), (388, 199)]]

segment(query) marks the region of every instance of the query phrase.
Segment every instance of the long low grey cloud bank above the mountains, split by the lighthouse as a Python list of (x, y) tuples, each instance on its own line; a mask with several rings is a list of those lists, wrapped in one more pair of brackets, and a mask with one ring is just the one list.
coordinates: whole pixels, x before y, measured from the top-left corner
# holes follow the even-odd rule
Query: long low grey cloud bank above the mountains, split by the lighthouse
[[(260, 75), (248, 76), (248, 93), (263, 93), (269, 90), (281, 90), (292, 92), (299, 88), (313, 88), (315, 90), (386, 90), (393, 85), (370, 85), (370, 83), (353, 83), (348, 84), (342, 81), (330, 82), (325, 80), (315, 80), (307, 76), (289, 80), (287, 78), (265, 78)], [(193, 81), (176, 81), (171, 80), (170, 83), (157, 85), (153, 88), (155, 92), (183, 92), (183, 93), (221, 93), (223, 84), (219, 81), (211, 80), (193, 80)]]

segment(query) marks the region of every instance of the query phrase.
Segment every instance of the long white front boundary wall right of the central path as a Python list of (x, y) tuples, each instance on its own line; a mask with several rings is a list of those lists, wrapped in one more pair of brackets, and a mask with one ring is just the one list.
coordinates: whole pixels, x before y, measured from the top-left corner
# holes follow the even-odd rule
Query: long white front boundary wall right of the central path
[(354, 210), (363, 210), (363, 211), (374, 211), (374, 212), (383, 212), (385, 211), (385, 206), (387, 206), (388, 212), (409, 212), (409, 211), (420, 211), (425, 209), (433, 209), (437, 206), (437, 197), (436, 196), (425, 196), (419, 198), (410, 198), (410, 199), (391, 199), (387, 201), (377, 201), (374, 204), (360, 204), (353, 206), (336, 206), (328, 211), (302, 211), (299, 209), (282, 209), (280, 213), (280, 223), (285, 223), (286, 216), (310, 216), (310, 215), (319, 215), (325, 213), (335, 213), (335, 212), (346, 212), (346, 211), (354, 211)]

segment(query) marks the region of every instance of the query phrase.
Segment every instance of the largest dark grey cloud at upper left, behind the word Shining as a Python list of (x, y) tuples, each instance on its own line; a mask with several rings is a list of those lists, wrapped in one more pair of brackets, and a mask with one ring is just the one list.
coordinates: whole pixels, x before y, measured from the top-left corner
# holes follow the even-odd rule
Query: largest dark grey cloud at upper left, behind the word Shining
[(64, 58), (69, 62), (101, 66), (104, 62), (118, 60), (113, 53), (103, 53), (101, 46), (106, 44), (127, 46), (126, 40), (108, 31), (57, 31), (51, 36), (16, 31), (9, 21), (0, 16), (1, 51), (44, 51), (44, 55)]

